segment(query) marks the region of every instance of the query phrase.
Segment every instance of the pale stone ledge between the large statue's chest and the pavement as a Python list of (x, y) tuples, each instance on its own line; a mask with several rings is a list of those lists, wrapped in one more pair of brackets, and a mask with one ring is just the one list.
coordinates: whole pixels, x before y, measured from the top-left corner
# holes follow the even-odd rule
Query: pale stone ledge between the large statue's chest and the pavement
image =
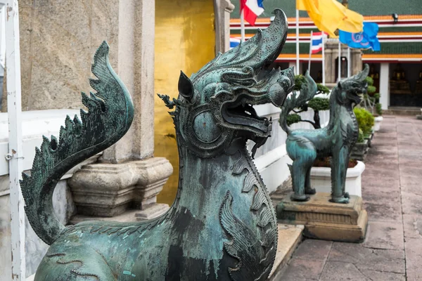
[(277, 243), (276, 261), (269, 273), (268, 280), (280, 280), (283, 274), (283, 267), (290, 260), (293, 252), (302, 241), (302, 232), (304, 226), (291, 226), (279, 223), (279, 240)]

